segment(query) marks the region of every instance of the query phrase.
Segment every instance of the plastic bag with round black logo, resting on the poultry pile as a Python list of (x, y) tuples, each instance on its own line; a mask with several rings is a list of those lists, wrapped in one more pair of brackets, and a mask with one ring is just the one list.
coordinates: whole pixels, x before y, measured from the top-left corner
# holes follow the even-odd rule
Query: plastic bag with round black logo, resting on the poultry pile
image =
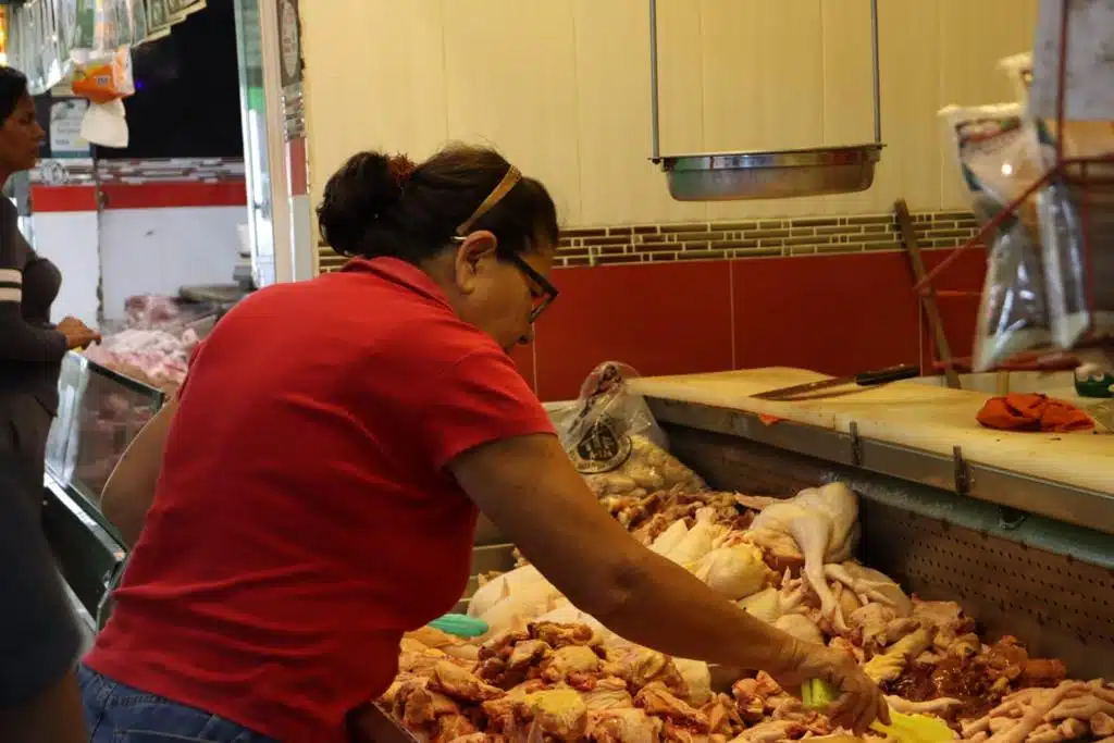
[(561, 444), (597, 497), (645, 496), (707, 486), (666, 450), (665, 432), (627, 381), (638, 372), (600, 364), (585, 380), (575, 408), (558, 417)]

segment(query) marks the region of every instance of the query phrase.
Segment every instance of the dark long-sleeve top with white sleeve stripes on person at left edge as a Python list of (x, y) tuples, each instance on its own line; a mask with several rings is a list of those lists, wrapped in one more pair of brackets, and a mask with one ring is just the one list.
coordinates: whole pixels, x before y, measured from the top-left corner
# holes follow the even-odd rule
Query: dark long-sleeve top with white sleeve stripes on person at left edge
[(61, 275), (19, 232), (19, 212), (0, 198), (0, 395), (33, 394), (58, 408), (66, 336), (50, 325)]

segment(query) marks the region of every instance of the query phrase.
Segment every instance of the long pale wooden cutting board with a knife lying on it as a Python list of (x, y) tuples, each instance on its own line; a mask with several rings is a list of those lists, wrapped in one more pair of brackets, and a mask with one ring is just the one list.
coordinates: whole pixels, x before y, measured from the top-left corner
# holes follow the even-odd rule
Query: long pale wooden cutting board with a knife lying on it
[[(971, 462), (1114, 495), (1114, 436), (1092, 432), (1016, 433), (983, 428), (976, 413), (990, 395), (919, 382), (857, 389), (822, 400), (772, 401), (759, 392), (828, 379), (803, 369), (773, 366), (713, 374), (635, 380), (632, 388), (653, 398), (681, 400), (847, 433), (950, 457), (962, 447)], [(831, 392), (827, 390), (825, 392)]]

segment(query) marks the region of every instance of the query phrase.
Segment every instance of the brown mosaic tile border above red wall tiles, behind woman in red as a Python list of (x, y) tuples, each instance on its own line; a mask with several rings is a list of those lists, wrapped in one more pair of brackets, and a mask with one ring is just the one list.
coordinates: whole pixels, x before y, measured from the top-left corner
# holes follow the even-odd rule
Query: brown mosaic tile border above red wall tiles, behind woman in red
[[(913, 213), (921, 247), (957, 247), (978, 232), (970, 212)], [(672, 261), (723, 261), (902, 250), (892, 214), (784, 217), (573, 227), (561, 232), (556, 265), (608, 266)], [(320, 248), (321, 270), (344, 256)]]

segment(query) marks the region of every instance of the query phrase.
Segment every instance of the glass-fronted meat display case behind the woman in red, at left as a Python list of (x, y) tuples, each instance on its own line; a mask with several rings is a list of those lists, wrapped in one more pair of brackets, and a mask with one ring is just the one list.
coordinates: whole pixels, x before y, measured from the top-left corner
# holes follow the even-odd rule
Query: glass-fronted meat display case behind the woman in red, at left
[(77, 353), (62, 360), (58, 391), (58, 417), (47, 440), (42, 524), (82, 619), (91, 625), (126, 555), (100, 512), (100, 491), (163, 405), (164, 394)]

